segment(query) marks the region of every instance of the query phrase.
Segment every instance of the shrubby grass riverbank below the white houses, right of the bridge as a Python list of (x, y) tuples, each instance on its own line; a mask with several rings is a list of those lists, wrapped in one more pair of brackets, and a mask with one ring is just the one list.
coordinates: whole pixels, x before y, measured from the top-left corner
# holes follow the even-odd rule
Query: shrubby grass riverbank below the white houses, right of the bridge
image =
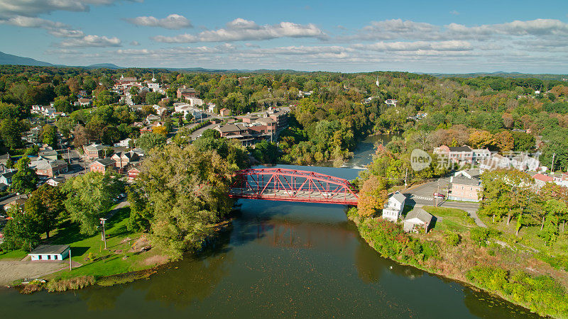
[(464, 211), (425, 209), (438, 218), (427, 234), (406, 234), (382, 218), (360, 218), (356, 209), (349, 218), (383, 257), (462, 281), (539, 315), (568, 318), (568, 274), (542, 262), (542, 252), (517, 245), (503, 231), (477, 227)]

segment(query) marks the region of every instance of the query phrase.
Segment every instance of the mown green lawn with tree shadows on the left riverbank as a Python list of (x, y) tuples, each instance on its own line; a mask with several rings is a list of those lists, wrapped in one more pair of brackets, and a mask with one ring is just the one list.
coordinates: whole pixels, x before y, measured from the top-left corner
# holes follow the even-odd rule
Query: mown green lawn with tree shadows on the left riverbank
[[(49, 240), (53, 245), (70, 245), (72, 270), (69, 269), (69, 259), (62, 262), (65, 269), (43, 276), (51, 283), (48, 288), (56, 287), (55, 291), (82, 288), (89, 284), (109, 286), (147, 276), (151, 272), (141, 272), (146, 269), (168, 262), (168, 258), (160, 250), (151, 247), (143, 233), (132, 233), (126, 229), (130, 208), (119, 208), (107, 220), (107, 250), (100, 233), (88, 236), (81, 235), (76, 223), (64, 223)], [(27, 252), (15, 250), (0, 254), (0, 259), (21, 260)], [(38, 264), (41, 266), (41, 264)], [(18, 280), (15, 279), (17, 284)], [(65, 284), (64, 284), (65, 283)]]

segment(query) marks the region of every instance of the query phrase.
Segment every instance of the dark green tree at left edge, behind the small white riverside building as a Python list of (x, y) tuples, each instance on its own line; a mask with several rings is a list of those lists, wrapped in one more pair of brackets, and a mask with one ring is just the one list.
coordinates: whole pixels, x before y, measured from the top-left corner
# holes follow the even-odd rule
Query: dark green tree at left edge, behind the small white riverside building
[(26, 250), (31, 252), (40, 242), (37, 224), (33, 218), (23, 213), (22, 209), (13, 206), (9, 209), (11, 217), (4, 228), (4, 245), (8, 250)]

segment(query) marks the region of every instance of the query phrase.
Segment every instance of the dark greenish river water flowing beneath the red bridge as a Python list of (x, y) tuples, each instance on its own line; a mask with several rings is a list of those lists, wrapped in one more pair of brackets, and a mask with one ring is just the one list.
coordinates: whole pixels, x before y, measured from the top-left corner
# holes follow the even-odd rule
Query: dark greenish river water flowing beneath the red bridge
[[(361, 143), (351, 167), (371, 160)], [(354, 168), (295, 167), (353, 179)], [(381, 258), (346, 207), (239, 200), (232, 227), (200, 256), (150, 279), (65, 293), (0, 289), (1, 318), (525, 318), (486, 293)]]

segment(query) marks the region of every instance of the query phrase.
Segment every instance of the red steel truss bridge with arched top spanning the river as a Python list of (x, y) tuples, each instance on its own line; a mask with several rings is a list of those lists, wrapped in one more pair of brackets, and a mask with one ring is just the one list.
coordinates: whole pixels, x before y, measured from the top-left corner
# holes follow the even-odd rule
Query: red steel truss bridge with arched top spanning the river
[(358, 191), (346, 179), (296, 169), (243, 169), (235, 172), (232, 198), (357, 205)]

